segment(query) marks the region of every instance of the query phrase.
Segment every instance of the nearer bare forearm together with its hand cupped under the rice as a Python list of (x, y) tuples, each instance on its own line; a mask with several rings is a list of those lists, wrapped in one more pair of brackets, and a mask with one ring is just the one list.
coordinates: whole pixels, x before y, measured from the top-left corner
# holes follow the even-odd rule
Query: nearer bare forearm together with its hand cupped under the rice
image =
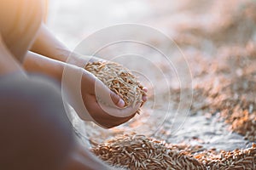
[[(28, 54), (26, 54), (23, 65), (26, 71), (43, 73), (45, 75), (48, 75), (49, 77), (55, 78), (58, 82), (62, 82), (62, 83), (63, 83), (62, 73), (64, 69), (71, 68), (75, 70), (71, 75), (71, 81), (70, 81), (71, 83), (73, 82), (79, 83), (77, 81), (72, 81), (72, 80), (73, 80), (73, 77), (76, 77), (76, 75), (74, 74), (81, 73), (82, 75), (81, 82), (80, 82), (81, 86), (80, 86), (80, 89), (77, 89), (77, 90), (80, 90), (79, 91), (80, 96), (72, 96), (72, 97), (73, 99), (79, 99), (81, 97), (82, 107), (85, 106), (86, 111), (81, 110), (79, 108), (81, 105), (76, 105), (76, 102), (73, 102), (72, 106), (75, 109), (75, 111), (78, 112), (80, 117), (83, 117), (82, 115), (84, 114), (85, 114), (84, 117), (86, 117), (86, 115), (91, 116), (92, 119), (83, 118), (84, 121), (93, 121), (93, 122), (96, 122), (97, 124), (102, 125), (103, 127), (114, 127), (114, 126), (118, 126), (121, 123), (129, 121), (131, 117), (134, 116), (134, 114), (131, 115), (131, 113), (136, 112), (138, 109), (138, 105), (134, 108), (127, 107), (125, 109), (120, 109), (112, 105), (112, 106), (109, 106), (111, 108), (111, 111), (119, 115), (130, 115), (130, 116), (117, 117), (117, 116), (109, 115), (106, 112), (106, 110), (102, 109), (102, 105), (100, 105), (97, 102), (96, 85), (97, 85), (97, 90), (100, 91), (100, 93), (98, 94), (106, 94), (110, 96), (113, 101), (113, 104), (115, 104), (116, 106), (123, 107), (124, 101), (119, 97), (119, 95), (114, 94), (109, 88), (106, 88), (106, 86), (104, 86), (102, 83), (96, 83), (96, 82), (99, 82), (99, 80), (96, 77), (94, 77), (90, 72), (85, 71), (84, 69), (81, 69), (77, 66), (68, 65), (64, 62), (61, 62), (55, 59), (49, 59), (42, 55), (34, 54), (32, 52), (29, 52)], [(68, 83), (68, 81), (64, 83)], [(66, 86), (66, 84), (62, 84), (62, 85)], [(67, 90), (69, 91), (68, 94), (71, 94), (71, 95), (75, 94), (72, 89), (68, 88)], [(108, 98), (105, 98), (104, 102), (109, 103)]]

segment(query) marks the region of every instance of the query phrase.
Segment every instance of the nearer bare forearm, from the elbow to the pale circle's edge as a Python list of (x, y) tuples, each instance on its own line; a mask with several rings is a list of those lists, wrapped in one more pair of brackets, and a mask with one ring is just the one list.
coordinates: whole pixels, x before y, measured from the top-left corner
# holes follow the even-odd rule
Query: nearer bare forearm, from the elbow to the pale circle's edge
[(23, 62), (23, 67), (28, 72), (45, 74), (61, 82), (62, 72), (66, 63), (49, 59), (40, 54), (28, 52)]

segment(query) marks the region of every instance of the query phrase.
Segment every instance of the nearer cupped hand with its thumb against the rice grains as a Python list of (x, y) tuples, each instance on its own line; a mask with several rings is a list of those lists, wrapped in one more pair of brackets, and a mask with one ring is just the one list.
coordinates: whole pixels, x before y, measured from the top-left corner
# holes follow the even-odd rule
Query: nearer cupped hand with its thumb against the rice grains
[(140, 107), (124, 108), (125, 102), (107, 86), (88, 71), (84, 71), (81, 81), (84, 106), (93, 122), (110, 128), (128, 122)]

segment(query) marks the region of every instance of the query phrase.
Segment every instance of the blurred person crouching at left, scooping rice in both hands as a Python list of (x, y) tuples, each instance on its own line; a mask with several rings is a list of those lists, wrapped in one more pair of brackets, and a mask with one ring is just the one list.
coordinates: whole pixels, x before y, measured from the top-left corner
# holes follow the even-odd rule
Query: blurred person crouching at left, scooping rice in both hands
[(40, 0), (1, 1), (0, 169), (108, 169), (74, 140), (60, 90), (64, 67), (82, 74), (81, 94), (93, 118), (90, 121), (114, 127), (129, 121), (138, 105), (124, 109), (124, 101), (117, 94), (102, 88), (102, 94), (110, 94), (118, 106), (113, 111), (131, 116), (110, 116), (102, 110), (96, 102), (98, 80), (74, 66), (86, 58), (76, 54), (73, 65), (66, 63), (71, 53), (42, 23), (43, 4)]

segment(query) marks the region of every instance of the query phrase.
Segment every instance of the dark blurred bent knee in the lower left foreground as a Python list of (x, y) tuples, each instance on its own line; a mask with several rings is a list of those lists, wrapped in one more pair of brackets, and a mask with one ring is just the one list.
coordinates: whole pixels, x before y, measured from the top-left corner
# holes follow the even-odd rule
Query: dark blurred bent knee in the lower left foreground
[(0, 77), (0, 169), (58, 170), (73, 150), (61, 90), (45, 77)]

